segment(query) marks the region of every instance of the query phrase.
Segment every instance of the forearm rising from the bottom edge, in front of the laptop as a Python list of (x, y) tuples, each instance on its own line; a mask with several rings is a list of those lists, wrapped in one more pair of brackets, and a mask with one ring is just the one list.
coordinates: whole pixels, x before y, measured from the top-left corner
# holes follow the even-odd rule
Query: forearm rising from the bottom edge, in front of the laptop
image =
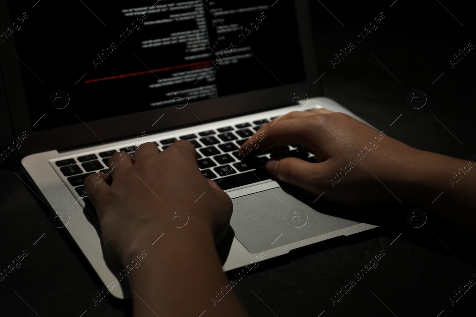
[[(206, 316), (247, 316), (234, 292), (223, 291), (229, 282), (211, 232), (187, 227), (157, 232), (164, 235), (130, 273), (134, 316), (200, 316), (204, 311)], [(217, 292), (224, 294), (219, 303), (212, 299)]]

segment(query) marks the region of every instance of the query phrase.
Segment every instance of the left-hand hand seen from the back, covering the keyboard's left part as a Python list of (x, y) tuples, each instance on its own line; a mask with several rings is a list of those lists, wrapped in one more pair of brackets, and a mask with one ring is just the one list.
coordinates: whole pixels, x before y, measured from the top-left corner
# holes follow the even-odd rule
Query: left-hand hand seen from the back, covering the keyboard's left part
[(209, 232), (215, 242), (224, 237), (231, 199), (200, 173), (195, 148), (188, 141), (176, 141), (161, 153), (153, 143), (141, 144), (135, 157), (116, 153), (109, 166), (109, 175), (92, 174), (84, 187), (96, 207), (106, 249), (123, 265), (162, 232), (177, 232), (172, 228), (177, 226), (176, 211), (183, 223), (188, 214), (180, 230)]

